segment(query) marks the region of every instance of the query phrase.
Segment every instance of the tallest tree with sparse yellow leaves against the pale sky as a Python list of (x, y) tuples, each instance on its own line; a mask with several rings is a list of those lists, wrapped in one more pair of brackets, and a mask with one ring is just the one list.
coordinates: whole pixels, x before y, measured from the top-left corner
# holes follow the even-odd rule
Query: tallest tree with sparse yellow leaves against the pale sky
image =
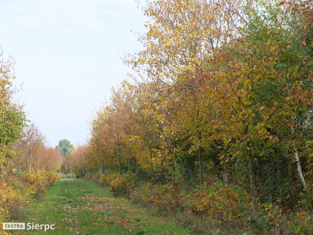
[[(159, 84), (173, 82), (174, 90), (187, 93), (183, 103), (191, 107), (184, 110), (187, 114), (184, 116), (197, 139), (192, 141), (192, 149), (196, 148), (198, 152), (200, 184), (203, 178), (201, 118), (204, 113), (199, 108), (203, 86), (199, 70), (208, 54), (227, 40), (227, 35), (234, 36), (242, 17), (242, 4), (243, 1), (149, 1), (144, 7), (150, 18), (146, 22), (147, 32), (139, 34), (144, 50), (125, 60), (138, 74), (146, 73)], [(188, 112), (190, 110), (194, 112)]]

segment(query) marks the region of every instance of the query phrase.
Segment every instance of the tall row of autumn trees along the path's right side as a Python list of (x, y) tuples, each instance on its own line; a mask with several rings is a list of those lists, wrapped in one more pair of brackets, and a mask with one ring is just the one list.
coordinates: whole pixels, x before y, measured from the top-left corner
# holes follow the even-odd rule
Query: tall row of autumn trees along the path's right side
[(311, 1), (158, 0), (143, 11), (144, 49), (124, 58), (134, 74), (96, 110), (80, 164), (151, 187), (240, 185), (254, 218), (258, 200), (310, 201)]

